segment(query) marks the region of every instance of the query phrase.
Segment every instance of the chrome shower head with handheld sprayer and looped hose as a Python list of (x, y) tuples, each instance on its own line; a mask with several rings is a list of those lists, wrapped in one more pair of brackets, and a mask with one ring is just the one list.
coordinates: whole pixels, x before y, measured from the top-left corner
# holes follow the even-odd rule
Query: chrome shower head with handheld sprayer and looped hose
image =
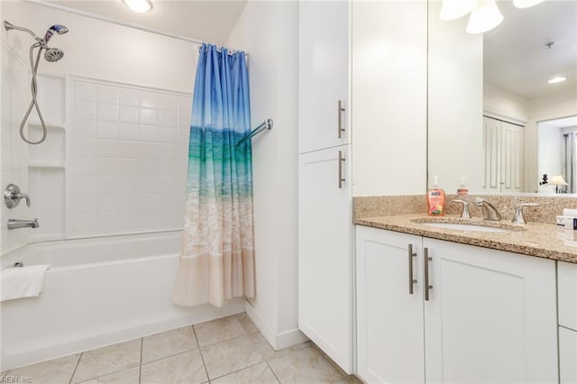
[[(69, 32), (69, 29), (67, 27), (65, 27), (64, 25), (54, 24), (46, 31), (46, 33), (44, 34), (44, 38), (41, 39), (40, 37), (36, 36), (34, 34), (34, 32), (29, 30), (28, 28), (19, 27), (17, 25), (14, 25), (13, 23), (8, 23), (7, 21), (4, 22), (4, 27), (5, 27), (6, 31), (16, 30), (16, 31), (27, 32), (27, 33), (31, 34), (32, 37), (34, 38), (34, 40), (36, 41), (30, 47), (30, 69), (32, 70), (32, 86), (31, 86), (31, 88), (32, 88), (32, 101), (30, 102), (30, 106), (28, 107), (26, 114), (24, 114), (24, 118), (22, 120), (22, 123), (20, 123), (20, 137), (22, 137), (22, 140), (24, 142), (27, 142), (29, 144), (40, 144), (41, 142), (46, 140), (46, 134), (47, 134), (46, 123), (44, 123), (44, 118), (42, 117), (42, 114), (40, 111), (40, 106), (38, 106), (38, 101), (36, 100), (36, 95), (38, 94), (38, 85), (36, 83), (36, 74), (38, 72), (38, 64), (40, 62), (41, 52), (42, 52), (42, 50), (46, 50), (44, 52), (44, 59), (46, 59), (46, 61), (48, 61), (48, 62), (56, 62), (56, 61), (62, 59), (64, 57), (64, 51), (60, 50), (60, 48), (50, 48), (48, 46), (48, 41), (50, 41), (50, 39), (52, 38), (52, 36), (54, 34), (64, 34), (66, 32)], [(36, 61), (34, 61), (33, 52), (36, 48), (38, 48), (38, 54), (36, 55)], [(34, 108), (34, 107), (36, 108), (36, 112), (38, 113), (38, 117), (40, 118), (40, 122), (42, 125), (42, 137), (37, 142), (32, 142), (24, 136), (24, 125), (26, 124), (26, 120), (28, 120), (28, 117), (30, 116), (30, 113), (32, 112), (32, 108)]]

